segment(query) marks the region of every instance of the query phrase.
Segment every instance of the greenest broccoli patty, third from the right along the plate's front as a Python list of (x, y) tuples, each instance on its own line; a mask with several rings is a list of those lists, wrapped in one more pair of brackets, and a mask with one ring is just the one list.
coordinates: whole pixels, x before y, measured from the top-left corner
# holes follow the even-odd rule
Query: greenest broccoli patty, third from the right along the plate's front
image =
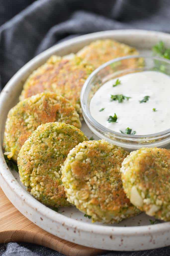
[(87, 140), (76, 127), (65, 123), (38, 126), (21, 147), (18, 169), (21, 182), (43, 204), (51, 207), (69, 206), (60, 168), (69, 151)]

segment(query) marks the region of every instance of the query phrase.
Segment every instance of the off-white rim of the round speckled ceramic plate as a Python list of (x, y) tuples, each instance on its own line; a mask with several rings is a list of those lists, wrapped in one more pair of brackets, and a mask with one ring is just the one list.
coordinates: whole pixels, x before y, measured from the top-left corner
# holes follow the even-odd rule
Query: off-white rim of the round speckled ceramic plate
[[(61, 42), (55, 46), (52, 46), (51, 48), (45, 50), (41, 54), (34, 57), (32, 60), (30, 60), (27, 64), (25, 64), (6, 84), (4, 89), (2, 90), (0, 94), (0, 115), (3, 112), (3, 108), (5, 106), (5, 101), (9, 99), (9, 91), (16, 87), (14, 86), (15, 83), (26, 73), (28, 70), (31, 69), (31, 67), (37, 65), (40, 63), (40, 61), (44, 61), (47, 59), (51, 54), (54, 54), (57, 50), (60, 48), (64, 48), (65, 46), (68, 48), (72, 44), (80, 43), (83, 41), (86, 41), (87, 39), (95, 40), (96, 38), (104, 38), (104, 37), (114, 37), (116, 35), (133, 35), (133, 36), (158, 36), (158, 37), (165, 37), (167, 40), (170, 41), (170, 34), (162, 33), (158, 31), (150, 31), (150, 30), (138, 30), (138, 29), (128, 29), (128, 30), (108, 30), (108, 31), (101, 31), (96, 33), (90, 33), (83, 36), (78, 36), (69, 40), (66, 40), (64, 42)], [(41, 64), (40, 64), (41, 65)], [(14, 88), (13, 88), (14, 86)], [(1, 125), (2, 126), (2, 125)], [(1, 128), (1, 127), (0, 127)], [(3, 156), (2, 152), (2, 144), (0, 148), (0, 185), (3, 190), (5, 190), (5, 186), (3, 185), (3, 181), (6, 183), (6, 185), (10, 188), (11, 191), (14, 191), (15, 195), (20, 198), (20, 200), (23, 200), (22, 198), (25, 197), (24, 204), (29, 205), (31, 208), (35, 209), (38, 208), (38, 212), (42, 215), (51, 220), (54, 219), (57, 223), (65, 223), (66, 226), (70, 228), (79, 228), (79, 230), (85, 231), (85, 232), (93, 232), (94, 234), (106, 234), (109, 235), (113, 232), (115, 235), (121, 236), (122, 233), (125, 236), (141, 236), (141, 234), (148, 234), (150, 233), (159, 233), (159, 232), (165, 232), (170, 230), (170, 222), (165, 223), (159, 223), (155, 225), (147, 225), (147, 226), (135, 226), (135, 227), (115, 227), (115, 226), (102, 226), (102, 225), (92, 225), (91, 223), (85, 223), (81, 222), (79, 220), (71, 219), (67, 216), (64, 216), (62, 214), (59, 214), (58, 212), (55, 212), (45, 205), (41, 204), (39, 201), (37, 201), (35, 198), (33, 198), (27, 191), (25, 191), (21, 185), (17, 182), (17, 180), (14, 178), (12, 173), (10, 172)], [(13, 182), (11, 182), (13, 180)], [(4, 191), (4, 193), (9, 197), (9, 194)], [(23, 196), (21, 196), (21, 193)], [(15, 206), (15, 204), (14, 204)], [(16, 207), (18, 208), (18, 207)], [(18, 209), (19, 210), (19, 209)], [(22, 213), (23, 214), (23, 213)], [(49, 216), (50, 215), (50, 216)], [(28, 216), (25, 216), (28, 218)], [(71, 221), (70, 221), (71, 220)], [(31, 220), (32, 221), (32, 220)], [(167, 225), (168, 224), (168, 225)], [(38, 225), (39, 226), (39, 225)], [(42, 226), (40, 226), (42, 227)], [(48, 231), (49, 232), (49, 231)]]

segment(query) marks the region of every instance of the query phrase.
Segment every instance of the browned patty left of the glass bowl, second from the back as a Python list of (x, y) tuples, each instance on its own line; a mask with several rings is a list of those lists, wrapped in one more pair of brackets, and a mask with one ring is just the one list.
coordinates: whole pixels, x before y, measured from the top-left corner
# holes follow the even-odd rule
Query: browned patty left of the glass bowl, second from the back
[(29, 76), (20, 100), (44, 91), (56, 92), (70, 100), (77, 112), (81, 113), (80, 91), (93, 70), (91, 65), (82, 62), (79, 57), (67, 59), (51, 56)]

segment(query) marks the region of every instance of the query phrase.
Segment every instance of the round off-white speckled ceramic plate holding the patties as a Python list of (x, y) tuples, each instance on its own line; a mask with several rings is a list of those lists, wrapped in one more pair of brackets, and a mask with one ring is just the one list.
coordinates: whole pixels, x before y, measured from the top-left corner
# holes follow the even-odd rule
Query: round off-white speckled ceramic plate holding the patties
[[(170, 47), (170, 35), (145, 30), (104, 31), (76, 37), (51, 47), (21, 68), (0, 94), (0, 136), (3, 140), (5, 120), (9, 109), (16, 104), (22, 85), (29, 74), (52, 54), (77, 52), (98, 38), (114, 38), (151, 54), (151, 47), (162, 40)], [(86, 124), (82, 130), (90, 137)], [(94, 136), (94, 135), (93, 135)], [(95, 137), (95, 136), (94, 136)], [(91, 223), (74, 207), (59, 209), (59, 213), (34, 199), (21, 185), (19, 175), (9, 170), (0, 148), (0, 185), (12, 204), (28, 219), (44, 230), (65, 240), (88, 247), (106, 250), (144, 250), (170, 245), (170, 222), (150, 225), (144, 213), (115, 225)]]

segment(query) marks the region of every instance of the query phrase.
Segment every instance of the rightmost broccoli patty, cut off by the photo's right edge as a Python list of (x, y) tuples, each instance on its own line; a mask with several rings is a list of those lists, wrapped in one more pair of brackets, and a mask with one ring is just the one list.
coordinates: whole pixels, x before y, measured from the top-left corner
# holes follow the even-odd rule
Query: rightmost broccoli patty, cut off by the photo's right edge
[(170, 151), (140, 148), (122, 163), (124, 191), (132, 204), (146, 214), (170, 220)]

